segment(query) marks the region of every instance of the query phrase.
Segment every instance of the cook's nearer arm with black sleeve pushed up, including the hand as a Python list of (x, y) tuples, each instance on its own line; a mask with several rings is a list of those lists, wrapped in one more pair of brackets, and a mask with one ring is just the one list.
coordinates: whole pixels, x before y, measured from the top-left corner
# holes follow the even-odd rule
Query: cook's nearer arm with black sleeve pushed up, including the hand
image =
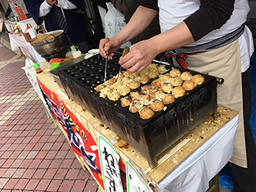
[[(152, 6), (154, 3), (150, 4), (150, 2), (156, 1), (144, 0), (144, 2)], [(142, 5), (145, 4), (142, 2)], [(119, 64), (131, 72), (140, 72), (153, 61), (156, 55), (166, 50), (186, 46), (202, 38), (210, 31), (220, 28), (230, 18), (233, 10), (234, 0), (201, 0), (199, 10), (178, 26), (131, 46), (130, 53), (121, 58)]]

